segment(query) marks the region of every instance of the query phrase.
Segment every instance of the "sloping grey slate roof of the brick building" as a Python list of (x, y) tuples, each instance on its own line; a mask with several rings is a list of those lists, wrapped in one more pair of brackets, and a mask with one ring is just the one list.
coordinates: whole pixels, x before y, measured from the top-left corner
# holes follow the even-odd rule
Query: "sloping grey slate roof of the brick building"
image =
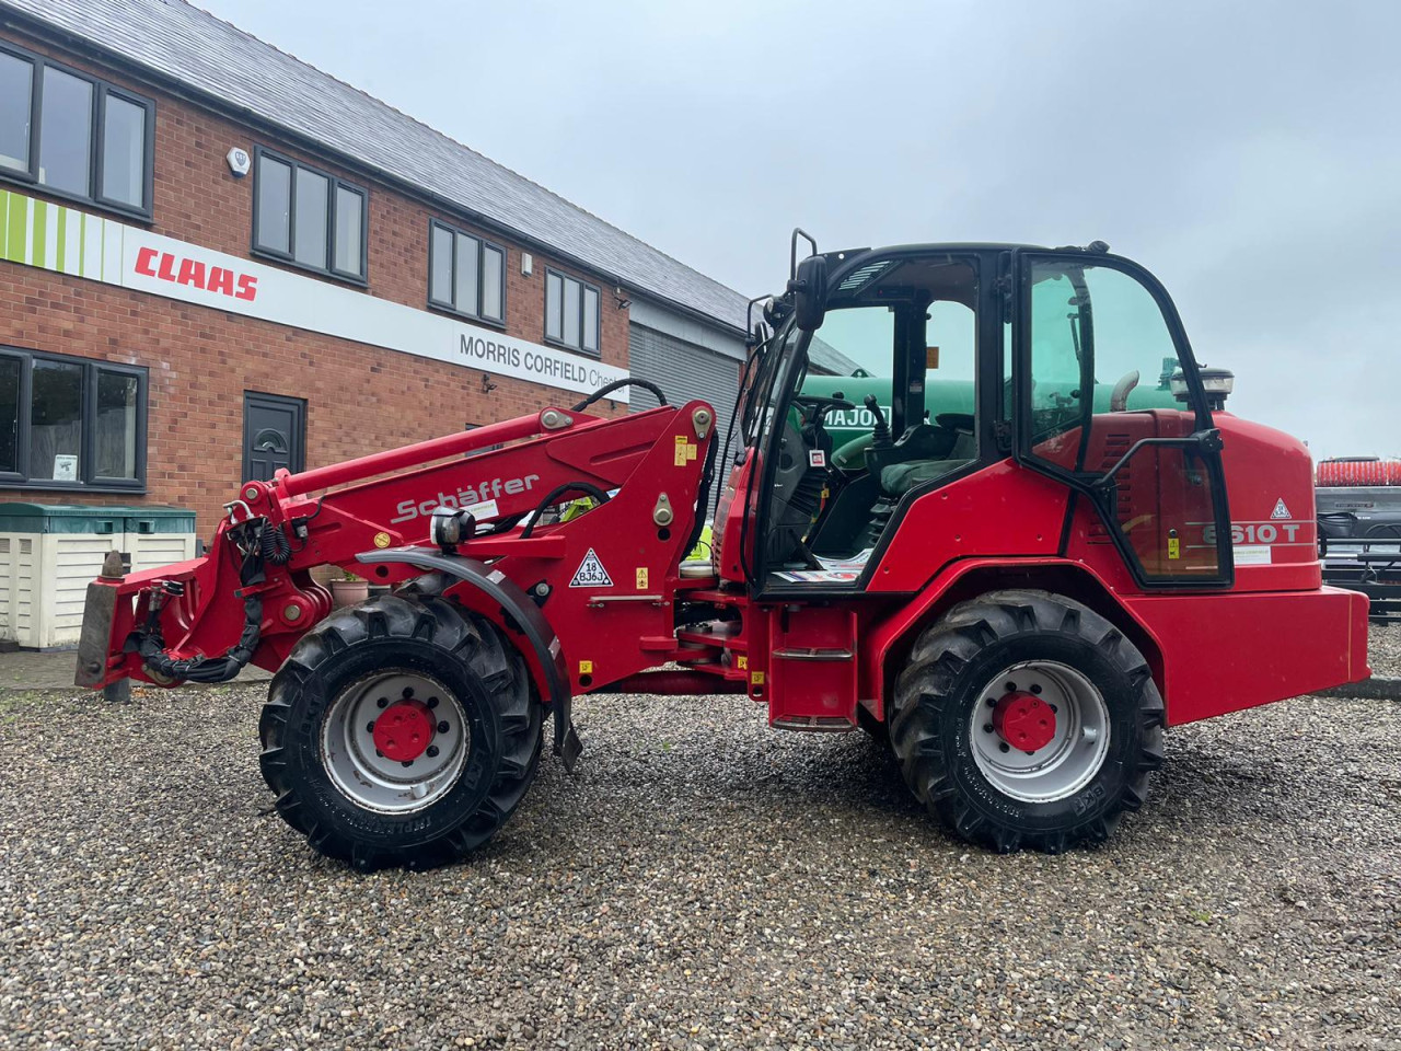
[[(0, 0), (4, 8), (481, 216), (629, 291), (744, 331), (747, 297), (734, 289), (184, 0)], [(845, 359), (814, 364), (850, 371)]]

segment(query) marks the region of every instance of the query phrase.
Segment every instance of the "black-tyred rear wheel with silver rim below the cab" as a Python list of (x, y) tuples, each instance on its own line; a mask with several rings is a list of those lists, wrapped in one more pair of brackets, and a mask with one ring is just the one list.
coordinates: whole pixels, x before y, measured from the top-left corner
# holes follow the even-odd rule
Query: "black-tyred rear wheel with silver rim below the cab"
[[(1017, 691), (1054, 712), (1042, 733), (1055, 736), (1033, 751), (992, 729)], [(1048, 591), (993, 591), (944, 614), (897, 678), (888, 722), (919, 802), (1002, 853), (1107, 839), (1163, 762), (1163, 698), (1143, 656)]]

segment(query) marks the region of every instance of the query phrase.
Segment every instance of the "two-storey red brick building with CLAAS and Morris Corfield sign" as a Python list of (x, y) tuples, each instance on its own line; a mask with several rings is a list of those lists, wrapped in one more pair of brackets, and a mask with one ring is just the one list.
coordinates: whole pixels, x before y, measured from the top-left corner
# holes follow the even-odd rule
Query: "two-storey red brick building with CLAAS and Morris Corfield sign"
[(179, 0), (0, 0), (0, 500), (209, 535), (245, 476), (629, 370), (724, 413), (744, 307)]

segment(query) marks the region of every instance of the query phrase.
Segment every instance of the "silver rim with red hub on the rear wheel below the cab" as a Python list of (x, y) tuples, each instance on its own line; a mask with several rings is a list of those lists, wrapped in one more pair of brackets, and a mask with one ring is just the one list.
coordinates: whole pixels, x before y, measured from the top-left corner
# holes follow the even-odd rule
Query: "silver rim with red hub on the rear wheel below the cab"
[(1070, 666), (1027, 660), (989, 680), (968, 733), (974, 761), (995, 789), (1026, 803), (1054, 803), (1083, 789), (1104, 767), (1110, 709)]

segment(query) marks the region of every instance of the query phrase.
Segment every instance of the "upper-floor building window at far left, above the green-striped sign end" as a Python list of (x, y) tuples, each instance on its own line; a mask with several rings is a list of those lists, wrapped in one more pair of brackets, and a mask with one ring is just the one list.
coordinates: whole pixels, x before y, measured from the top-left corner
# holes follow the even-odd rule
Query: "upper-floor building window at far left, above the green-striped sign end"
[(156, 104), (0, 45), (0, 177), (149, 219)]

